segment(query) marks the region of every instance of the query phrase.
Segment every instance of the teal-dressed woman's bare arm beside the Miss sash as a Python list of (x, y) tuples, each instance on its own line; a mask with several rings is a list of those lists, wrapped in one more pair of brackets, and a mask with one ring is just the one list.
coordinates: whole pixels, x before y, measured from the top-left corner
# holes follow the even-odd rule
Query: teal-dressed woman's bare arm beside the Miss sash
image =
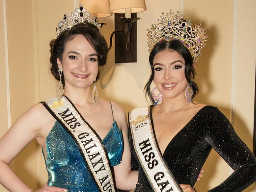
[(124, 151), (122, 161), (114, 166), (115, 181), (117, 188), (122, 190), (134, 190), (138, 180), (138, 171), (131, 171), (131, 153), (128, 141), (128, 127), (124, 110), (114, 103), (113, 110), (119, 128), (124, 138)]

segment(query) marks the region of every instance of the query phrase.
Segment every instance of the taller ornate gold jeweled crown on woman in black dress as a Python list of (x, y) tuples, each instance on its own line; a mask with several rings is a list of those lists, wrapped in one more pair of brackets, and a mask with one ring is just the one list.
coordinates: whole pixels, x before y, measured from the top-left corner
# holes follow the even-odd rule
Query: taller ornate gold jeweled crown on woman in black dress
[(178, 11), (174, 13), (170, 10), (169, 13), (162, 13), (160, 18), (158, 19), (160, 22), (152, 24), (148, 30), (148, 51), (151, 52), (160, 41), (179, 40), (187, 47), (195, 63), (206, 45), (205, 29), (201, 24), (193, 27), (191, 20), (184, 20)]

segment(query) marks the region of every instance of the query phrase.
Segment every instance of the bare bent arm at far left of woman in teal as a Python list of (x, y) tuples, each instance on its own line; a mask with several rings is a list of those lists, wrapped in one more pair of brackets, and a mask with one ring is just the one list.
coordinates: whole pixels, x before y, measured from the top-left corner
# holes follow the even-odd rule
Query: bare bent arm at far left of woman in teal
[[(43, 105), (34, 105), (11, 126), (6, 134), (0, 139), (0, 183), (10, 192), (32, 192), (33, 190), (13, 172), (8, 164), (39, 134), (45, 113)], [(65, 191), (61, 188), (44, 186), (38, 192)]]

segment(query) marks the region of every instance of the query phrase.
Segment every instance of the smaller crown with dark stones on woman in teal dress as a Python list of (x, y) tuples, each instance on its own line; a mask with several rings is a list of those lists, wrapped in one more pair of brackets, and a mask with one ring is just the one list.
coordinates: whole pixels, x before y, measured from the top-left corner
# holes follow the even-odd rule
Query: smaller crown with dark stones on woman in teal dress
[(92, 18), (91, 14), (82, 5), (80, 5), (70, 13), (70, 16), (64, 15), (63, 20), (58, 22), (58, 27), (56, 28), (57, 36), (59, 36), (63, 31), (69, 30), (73, 26), (85, 22), (94, 24), (98, 29), (100, 28), (100, 24), (98, 24), (97, 19)]

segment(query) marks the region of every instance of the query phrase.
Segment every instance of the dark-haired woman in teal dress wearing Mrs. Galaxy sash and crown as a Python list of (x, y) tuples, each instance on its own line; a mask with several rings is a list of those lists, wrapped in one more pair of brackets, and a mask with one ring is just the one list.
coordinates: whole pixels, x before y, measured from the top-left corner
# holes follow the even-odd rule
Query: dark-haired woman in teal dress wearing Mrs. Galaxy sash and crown
[(8, 164), (34, 138), (48, 171), (47, 185), (37, 192), (135, 188), (126, 114), (116, 103), (98, 98), (95, 82), (108, 54), (98, 28), (82, 6), (59, 22), (58, 37), (50, 43), (57, 97), (33, 105), (0, 140), (0, 183), (7, 190), (33, 191)]

